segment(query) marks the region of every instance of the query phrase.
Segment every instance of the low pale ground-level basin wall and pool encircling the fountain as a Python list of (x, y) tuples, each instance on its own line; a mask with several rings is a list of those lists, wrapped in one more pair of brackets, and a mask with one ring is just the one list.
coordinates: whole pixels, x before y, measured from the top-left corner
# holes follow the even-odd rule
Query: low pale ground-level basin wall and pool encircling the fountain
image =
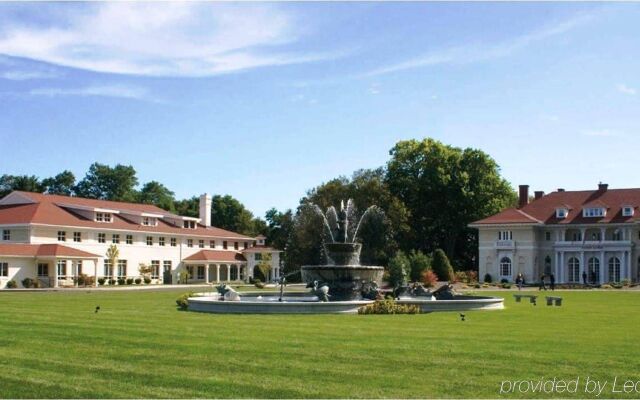
[[(357, 314), (372, 300), (321, 302), (307, 293), (289, 293), (278, 301), (278, 293), (241, 293), (240, 301), (225, 301), (219, 295), (202, 293), (189, 298), (189, 310), (216, 314)], [(455, 296), (454, 300), (401, 298), (397, 304), (418, 305), (423, 313), (440, 311), (502, 310), (504, 299), (488, 296)]]

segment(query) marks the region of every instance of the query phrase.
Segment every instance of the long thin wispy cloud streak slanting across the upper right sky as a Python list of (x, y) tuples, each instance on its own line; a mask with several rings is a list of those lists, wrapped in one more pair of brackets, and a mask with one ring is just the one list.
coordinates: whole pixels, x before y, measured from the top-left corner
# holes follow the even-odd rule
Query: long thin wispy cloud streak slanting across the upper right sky
[(407, 69), (443, 64), (470, 64), (506, 57), (535, 42), (564, 34), (577, 26), (587, 23), (591, 19), (593, 19), (591, 15), (581, 14), (556, 25), (550, 25), (498, 44), (465, 44), (440, 49), (408, 61), (374, 69), (364, 74), (364, 76), (376, 76)]

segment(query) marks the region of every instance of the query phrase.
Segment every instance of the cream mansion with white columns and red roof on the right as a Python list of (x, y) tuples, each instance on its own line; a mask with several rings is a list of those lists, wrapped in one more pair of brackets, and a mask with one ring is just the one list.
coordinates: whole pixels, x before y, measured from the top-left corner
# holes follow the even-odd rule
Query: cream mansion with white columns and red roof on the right
[(535, 192), (521, 185), (518, 206), (469, 225), (478, 229), (479, 277), (558, 283), (638, 280), (640, 189)]

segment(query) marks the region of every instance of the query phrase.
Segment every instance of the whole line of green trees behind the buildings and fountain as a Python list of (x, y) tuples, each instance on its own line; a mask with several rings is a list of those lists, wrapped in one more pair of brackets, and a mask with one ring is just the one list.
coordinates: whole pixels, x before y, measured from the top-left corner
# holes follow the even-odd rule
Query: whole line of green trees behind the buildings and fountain
[[(385, 223), (360, 235), (365, 243), (363, 263), (387, 265), (398, 252), (433, 254), (442, 249), (455, 269), (477, 268), (477, 232), (467, 225), (517, 201), (495, 160), (481, 150), (453, 147), (430, 138), (400, 141), (389, 156), (384, 166), (358, 170), (350, 177), (339, 176), (308, 190), (300, 206), (312, 202), (326, 209), (352, 198), (360, 210), (374, 204), (382, 208)], [(70, 171), (42, 180), (36, 176), (0, 177), (0, 196), (26, 190), (155, 204), (180, 215), (199, 214), (197, 196), (176, 199), (157, 181), (138, 187), (135, 169), (120, 164), (94, 163), (79, 181)], [(285, 271), (324, 261), (318, 240), (321, 224), (295, 229), (301, 207), (272, 208), (260, 218), (232, 196), (215, 195), (212, 200), (214, 226), (251, 236), (264, 234), (269, 245), (285, 250)]]

